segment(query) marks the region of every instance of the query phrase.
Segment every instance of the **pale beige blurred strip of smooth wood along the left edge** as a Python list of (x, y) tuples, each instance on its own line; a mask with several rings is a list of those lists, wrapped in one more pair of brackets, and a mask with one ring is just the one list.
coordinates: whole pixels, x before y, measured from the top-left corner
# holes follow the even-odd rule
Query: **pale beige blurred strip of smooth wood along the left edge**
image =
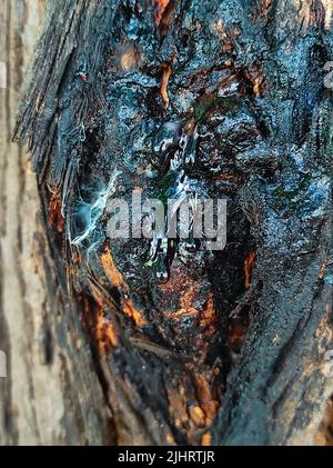
[(110, 411), (78, 318), (56, 280), (42, 228), (36, 175), (11, 143), (19, 90), (37, 40), (43, 1), (8, 0), (1, 8), (0, 378), (1, 445), (83, 445), (112, 440)]

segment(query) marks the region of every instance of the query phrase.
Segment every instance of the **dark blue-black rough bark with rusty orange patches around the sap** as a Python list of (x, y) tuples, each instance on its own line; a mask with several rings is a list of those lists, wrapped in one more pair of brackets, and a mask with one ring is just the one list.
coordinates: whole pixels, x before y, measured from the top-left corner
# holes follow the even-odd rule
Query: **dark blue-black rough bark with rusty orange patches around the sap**
[[(61, 361), (71, 399), (59, 441), (326, 441), (331, 14), (324, 0), (50, 9), (16, 133), (57, 273), (43, 342), (46, 371)], [(132, 190), (173, 193), (180, 148), (188, 191), (228, 199), (228, 242), (213, 255), (168, 246), (154, 270), (148, 241), (108, 237), (108, 207)]]

